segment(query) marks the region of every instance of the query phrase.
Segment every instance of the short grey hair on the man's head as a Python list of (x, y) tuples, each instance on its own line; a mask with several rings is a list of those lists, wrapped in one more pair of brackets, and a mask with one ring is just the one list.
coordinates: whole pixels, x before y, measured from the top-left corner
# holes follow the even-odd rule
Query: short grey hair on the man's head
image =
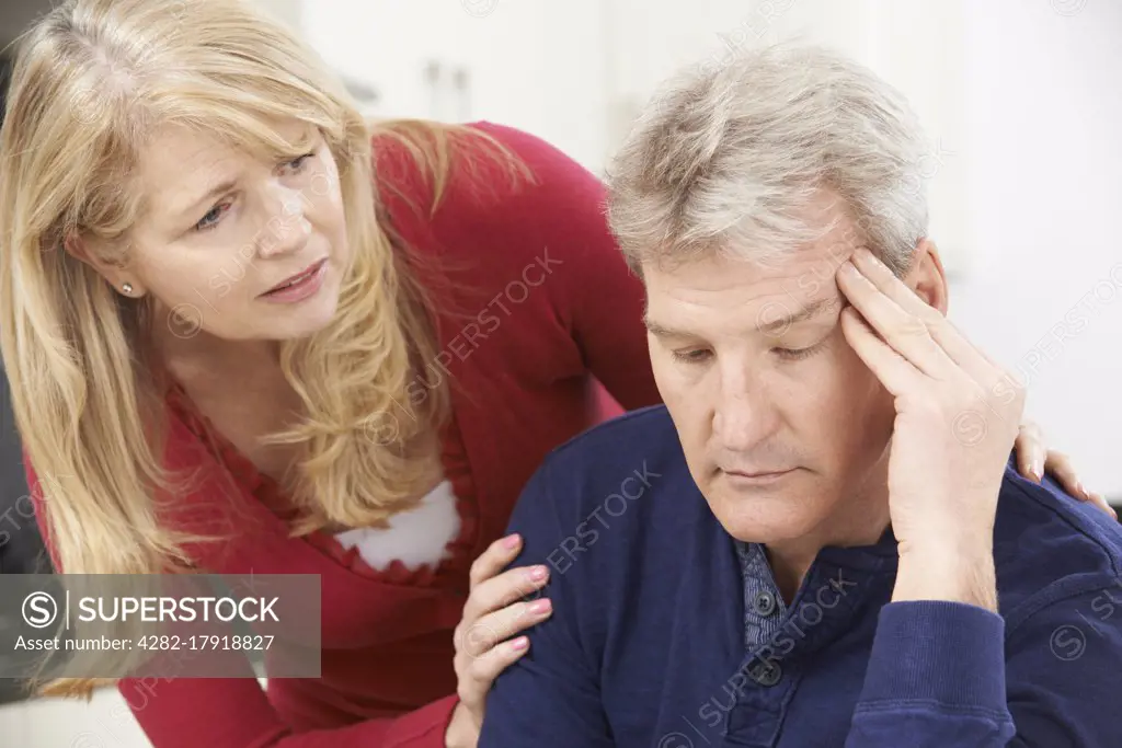
[(608, 168), (608, 219), (628, 265), (723, 252), (767, 264), (830, 231), (903, 273), (926, 236), (925, 135), (903, 95), (816, 46), (781, 44), (692, 67), (660, 90)]

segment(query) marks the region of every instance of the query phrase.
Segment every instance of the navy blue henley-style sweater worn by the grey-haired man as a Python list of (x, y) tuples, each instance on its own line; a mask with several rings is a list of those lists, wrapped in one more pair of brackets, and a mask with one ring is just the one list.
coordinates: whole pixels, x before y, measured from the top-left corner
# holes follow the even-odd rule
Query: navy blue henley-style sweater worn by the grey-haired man
[(551, 566), (554, 613), (496, 681), (479, 748), (1122, 747), (1122, 529), (1012, 468), (1000, 615), (890, 603), (891, 532), (822, 550), (785, 607), (663, 407), (554, 450), (511, 530), (516, 565)]

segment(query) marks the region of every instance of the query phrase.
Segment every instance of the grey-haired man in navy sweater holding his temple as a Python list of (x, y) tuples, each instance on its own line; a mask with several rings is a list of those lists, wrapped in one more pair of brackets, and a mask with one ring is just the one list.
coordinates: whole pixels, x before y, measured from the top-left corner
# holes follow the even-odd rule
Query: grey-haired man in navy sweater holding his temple
[(527, 487), (554, 613), (480, 748), (1122, 746), (1122, 533), (1009, 464), (1023, 394), (945, 317), (923, 156), (816, 49), (641, 119), (609, 207), (665, 407)]

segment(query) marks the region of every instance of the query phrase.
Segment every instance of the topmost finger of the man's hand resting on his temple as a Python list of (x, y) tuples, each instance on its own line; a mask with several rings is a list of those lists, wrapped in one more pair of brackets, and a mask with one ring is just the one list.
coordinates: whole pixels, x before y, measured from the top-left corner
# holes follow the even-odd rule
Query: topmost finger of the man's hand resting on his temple
[(896, 275), (867, 249), (858, 249), (853, 257), (857, 269), (876, 288), (895, 302), (900, 308), (927, 325), (928, 333), (947, 357), (965, 371), (974, 381), (990, 388), (1001, 378), (1000, 367), (978, 350), (937, 308), (916, 295)]

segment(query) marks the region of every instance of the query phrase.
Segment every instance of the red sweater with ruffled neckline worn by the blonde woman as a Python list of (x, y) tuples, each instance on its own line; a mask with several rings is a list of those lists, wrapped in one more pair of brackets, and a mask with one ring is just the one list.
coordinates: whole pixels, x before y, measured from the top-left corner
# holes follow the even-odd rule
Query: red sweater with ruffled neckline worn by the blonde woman
[[(478, 123), (512, 148), (536, 184), (512, 188), (476, 160), (453, 170), (444, 202), (422, 219), (386, 185), (419, 205), (427, 195), (399, 147), (375, 142), (379, 185), (398, 231), (453, 267), (438, 285), (440, 357), (453, 390), (444, 438), (461, 533), (438, 569), (376, 571), (329, 534), (289, 538), (277, 487), (210, 424), (182, 390), (168, 398), (167, 462), (201, 467), (206, 480), (231, 472), (240, 496), (208, 501), (205, 483), (184, 507), (230, 533), (231, 543), (199, 550), (212, 573), (319, 574), (322, 676), (272, 680), (178, 678), (121, 693), (156, 748), (436, 748), (456, 704), (452, 630), (468, 590), (468, 569), (500, 537), (524, 482), (545, 453), (592, 423), (657, 401), (642, 326), (643, 290), (607, 230), (604, 188), (537, 138)], [(442, 372), (426, 372), (431, 381)], [(218, 441), (205, 446), (206, 437)], [(34, 471), (28, 479), (35, 486)], [(33, 491), (33, 493), (36, 493)], [(213, 495), (211, 496), (213, 498)], [(49, 535), (45, 530), (45, 536)], [(48, 538), (49, 543), (49, 538)], [(153, 693), (154, 691), (154, 693)], [(453, 694), (453, 695), (450, 695)]]

